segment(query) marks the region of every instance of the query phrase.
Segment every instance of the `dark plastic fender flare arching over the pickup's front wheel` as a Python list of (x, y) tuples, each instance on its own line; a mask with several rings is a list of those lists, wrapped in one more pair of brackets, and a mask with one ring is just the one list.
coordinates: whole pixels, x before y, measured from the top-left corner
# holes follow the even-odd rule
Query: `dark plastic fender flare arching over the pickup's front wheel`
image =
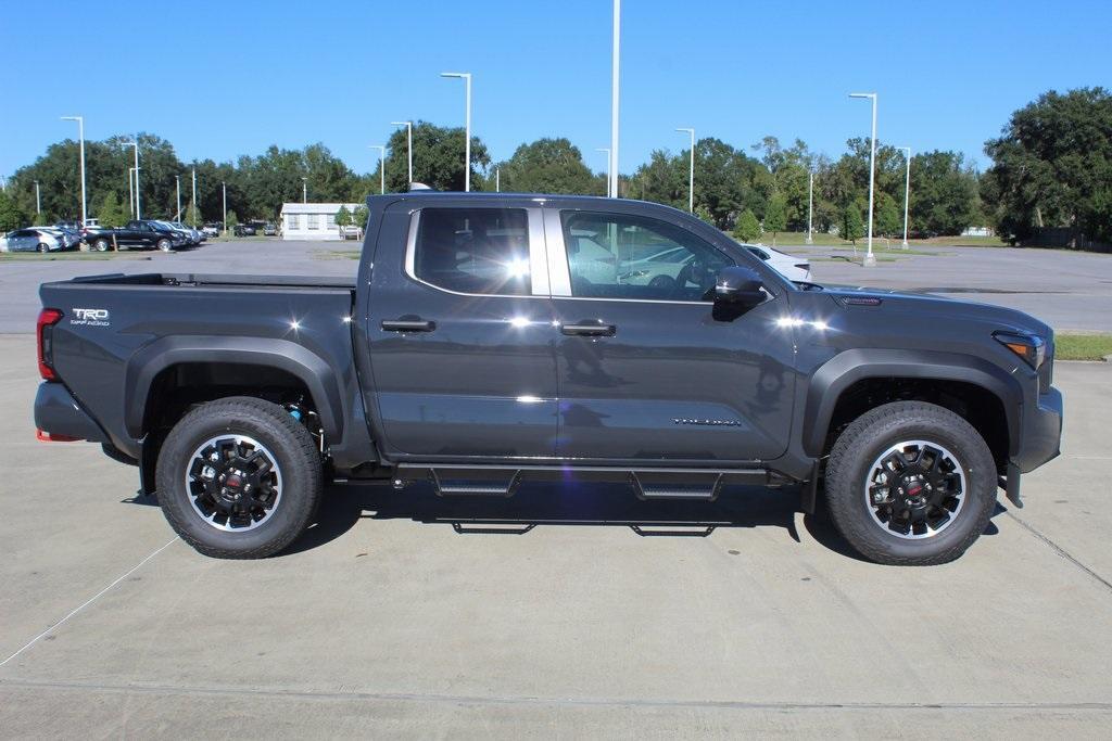
[(840, 352), (811, 377), (803, 417), (803, 449), (808, 455), (822, 455), (831, 418), (842, 392), (870, 378), (961, 381), (985, 389), (1000, 399), (1004, 408), (1009, 452), (1014, 454), (1020, 440), (1023, 389), (1007, 371), (975, 356), (864, 348)]

